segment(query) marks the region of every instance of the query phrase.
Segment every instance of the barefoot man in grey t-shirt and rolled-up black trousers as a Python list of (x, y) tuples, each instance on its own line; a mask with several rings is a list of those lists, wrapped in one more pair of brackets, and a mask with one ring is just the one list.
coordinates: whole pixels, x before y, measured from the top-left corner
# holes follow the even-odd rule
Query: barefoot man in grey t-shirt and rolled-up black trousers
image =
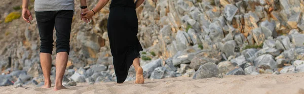
[[(28, 1), (23, 0), (22, 17), (30, 23), (32, 16), (28, 10)], [(66, 89), (62, 85), (62, 78), (65, 72), (69, 48), (72, 17), (74, 12), (74, 0), (35, 0), (34, 5), (37, 25), (41, 37), (40, 61), (45, 78), (43, 88), (51, 87), (51, 65), (53, 50), (53, 30), (56, 30), (56, 79), (53, 90)]]

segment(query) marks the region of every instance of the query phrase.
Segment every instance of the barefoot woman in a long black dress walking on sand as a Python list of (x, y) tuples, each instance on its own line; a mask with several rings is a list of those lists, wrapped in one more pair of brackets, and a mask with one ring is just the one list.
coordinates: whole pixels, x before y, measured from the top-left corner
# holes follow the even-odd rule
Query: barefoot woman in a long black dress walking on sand
[[(82, 19), (91, 19), (108, 1), (99, 0), (93, 10), (82, 13)], [(136, 71), (135, 83), (144, 83), (143, 70), (139, 64), (139, 51), (142, 51), (142, 47), (136, 36), (138, 19), (135, 11), (143, 2), (144, 0), (137, 0), (135, 3), (134, 0), (112, 0), (110, 5), (107, 30), (117, 83), (126, 80), (132, 64)], [(85, 2), (82, 2), (82, 6), (84, 5)]]

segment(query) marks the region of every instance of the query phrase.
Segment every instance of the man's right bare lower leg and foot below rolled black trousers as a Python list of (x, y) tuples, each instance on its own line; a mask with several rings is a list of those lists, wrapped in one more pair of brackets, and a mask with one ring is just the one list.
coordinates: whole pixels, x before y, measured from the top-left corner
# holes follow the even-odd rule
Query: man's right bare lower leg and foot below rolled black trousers
[(66, 52), (60, 52), (56, 55), (56, 81), (54, 91), (66, 89), (66, 87), (62, 85), (62, 79), (67, 64), (67, 58), (68, 54)]

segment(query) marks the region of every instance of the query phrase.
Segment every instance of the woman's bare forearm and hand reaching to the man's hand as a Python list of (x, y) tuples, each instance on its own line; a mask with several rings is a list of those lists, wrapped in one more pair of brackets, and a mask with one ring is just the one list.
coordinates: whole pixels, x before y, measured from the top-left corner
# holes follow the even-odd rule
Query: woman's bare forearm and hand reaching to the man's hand
[(107, 3), (109, 0), (99, 0), (97, 6), (93, 8), (91, 11), (83, 12), (84, 18), (91, 19), (97, 12), (99, 12)]

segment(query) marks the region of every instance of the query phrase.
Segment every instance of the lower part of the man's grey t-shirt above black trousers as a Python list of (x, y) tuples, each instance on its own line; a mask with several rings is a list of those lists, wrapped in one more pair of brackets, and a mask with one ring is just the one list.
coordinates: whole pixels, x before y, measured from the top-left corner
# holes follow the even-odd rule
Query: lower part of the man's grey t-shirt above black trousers
[(36, 12), (73, 10), (74, 0), (35, 0)]

